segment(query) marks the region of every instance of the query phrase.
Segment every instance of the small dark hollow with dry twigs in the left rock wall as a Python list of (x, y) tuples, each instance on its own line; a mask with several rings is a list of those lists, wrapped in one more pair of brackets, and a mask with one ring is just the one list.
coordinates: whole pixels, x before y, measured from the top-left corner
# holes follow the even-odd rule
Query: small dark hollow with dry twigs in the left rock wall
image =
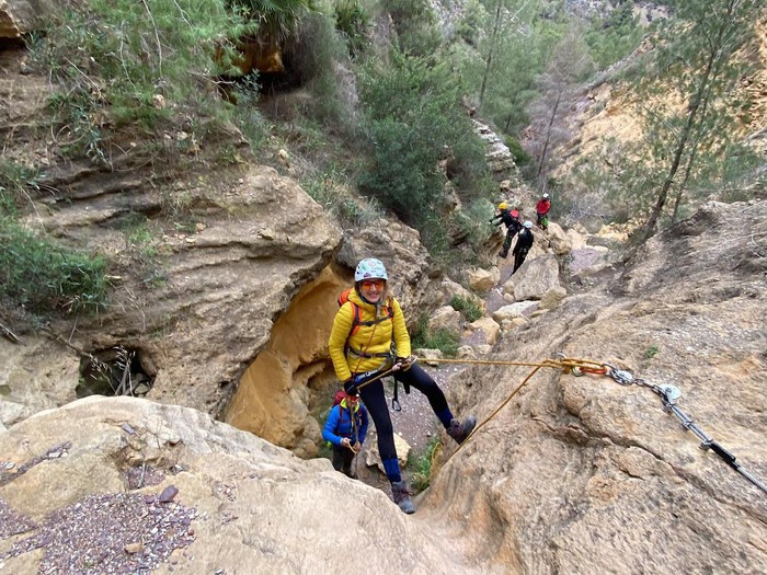
[(122, 345), (93, 352), (80, 360), (78, 398), (89, 395), (129, 395), (142, 398), (154, 383), (145, 368), (144, 352)]

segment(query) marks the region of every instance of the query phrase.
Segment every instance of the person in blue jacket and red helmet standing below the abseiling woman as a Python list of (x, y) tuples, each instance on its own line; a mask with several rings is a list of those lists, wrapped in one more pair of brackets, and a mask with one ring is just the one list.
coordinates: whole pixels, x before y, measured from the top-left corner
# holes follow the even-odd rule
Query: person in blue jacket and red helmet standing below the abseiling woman
[(333, 469), (352, 479), (357, 479), (352, 462), (365, 442), (368, 426), (367, 410), (355, 391), (346, 393), (341, 403), (333, 405), (322, 429), (322, 438), (333, 448)]

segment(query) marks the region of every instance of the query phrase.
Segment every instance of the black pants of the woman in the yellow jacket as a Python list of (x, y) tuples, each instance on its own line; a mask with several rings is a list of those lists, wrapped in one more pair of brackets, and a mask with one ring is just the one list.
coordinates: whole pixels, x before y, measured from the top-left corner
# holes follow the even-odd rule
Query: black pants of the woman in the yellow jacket
[[(434, 381), (419, 365), (411, 366), (408, 371), (394, 371), (393, 377), (397, 381), (415, 388), (426, 395), (435, 414), (447, 410), (447, 400), (439, 389), (439, 386), (437, 386), (436, 381)], [(384, 383), (379, 379), (378, 381), (365, 386), (359, 390), (359, 396), (365, 403), (370, 417), (373, 417), (373, 423), (376, 424), (376, 430), (378, 432), (378, 452), (381, 455), (381, 461), (397, 458), (394, 430), (391, 426), (389, 406), (386, 403)]]

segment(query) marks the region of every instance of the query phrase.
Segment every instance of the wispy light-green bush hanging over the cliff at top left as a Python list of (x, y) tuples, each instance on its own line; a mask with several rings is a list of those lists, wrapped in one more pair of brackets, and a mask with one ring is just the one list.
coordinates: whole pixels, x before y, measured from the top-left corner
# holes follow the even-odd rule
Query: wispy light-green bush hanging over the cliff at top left
[(95, 163), (121, 130), (140, 145), (171, 119), (224, 114), (211, 79), (238, 73), (230, 38), (249, 30), (224, 0), (90, 0), (46, 27), (32, 54), (55, 82), (57, 143)]

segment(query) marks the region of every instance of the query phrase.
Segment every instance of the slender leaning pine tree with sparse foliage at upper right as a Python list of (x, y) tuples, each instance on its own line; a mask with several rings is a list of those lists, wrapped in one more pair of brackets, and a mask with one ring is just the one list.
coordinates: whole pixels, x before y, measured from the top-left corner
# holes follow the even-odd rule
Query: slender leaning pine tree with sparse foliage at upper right
[[(665, 165), (643, 240), (655, 232), (669, 194), (676, 207), (706, 147), (726, 146), (722, 129), (734, 119), (737, 79), (746, 62), (739, 50), (753, 34), (765, 0), (675, 0), (674, 24), (659, 44), (655, 85), (672, 81), (683, 105), (649, 116), (648, 134), (667, 141), (656, 147), (655, 160)], [(719, 141), (717, 142), (717, 138)]]

